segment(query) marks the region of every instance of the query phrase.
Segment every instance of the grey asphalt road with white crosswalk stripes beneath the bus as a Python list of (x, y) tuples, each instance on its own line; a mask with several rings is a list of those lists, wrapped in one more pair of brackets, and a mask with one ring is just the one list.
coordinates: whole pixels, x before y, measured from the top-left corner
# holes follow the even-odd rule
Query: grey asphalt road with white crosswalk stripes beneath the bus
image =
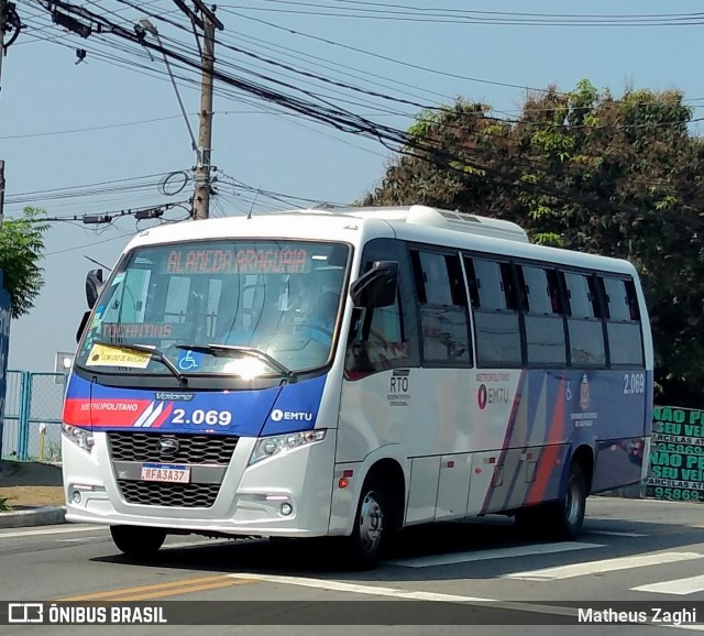
[[(339, 569), (333, 550), (324, 541), (170, 537), (157, 561), (138, 563), (120, 556), (101, 527), (2, 530), (0, 600), (198, 602), (176, 605), (195, 625), (80, 627), (86, 634), (356, 635), (359, 625), (374, 625), (363, 627), (369, 634), (404, 636), (704, 632), (701, 504), (592, 497), (584, 535), (564, 544), (528, 542), (502, 517), (416, 528), (372, 572)], [(641, 604), (619, 605), (627, 601)], [(573, 622), (578, 607), (651, 615), (664, 602), (670, 610), (698, 603), (700, 624), (560, 624)], [(231, 625), (201, 624), (226, 612)], [(343, 626), (324, 624), (330, 616)], [(498, 621), (508, 626), (490, 624)], [(308, 624), (316, 622), (323, 624)], [(75, 632), (67, 625), (0, 626), (18, 635)]]

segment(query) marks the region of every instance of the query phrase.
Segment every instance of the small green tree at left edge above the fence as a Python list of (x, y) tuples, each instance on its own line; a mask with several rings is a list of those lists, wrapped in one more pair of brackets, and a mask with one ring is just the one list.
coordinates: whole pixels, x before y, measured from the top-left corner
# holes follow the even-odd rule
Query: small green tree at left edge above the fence
[(44, 268), (38, 265), (48, 229), (44, 216), (43, 209), (26, 207), (21, 218), (6, 219), (0, 230), (0, 270), (12, 299), (12, 318), (28, 314), (44, 286)]

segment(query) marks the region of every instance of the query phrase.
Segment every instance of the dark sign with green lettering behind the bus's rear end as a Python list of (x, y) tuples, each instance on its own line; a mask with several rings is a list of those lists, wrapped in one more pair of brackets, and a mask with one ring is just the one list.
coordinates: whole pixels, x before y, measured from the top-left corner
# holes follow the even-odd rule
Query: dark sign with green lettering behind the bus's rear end
[(704, 410), (653, 409), (646, 496), (704, 502)]

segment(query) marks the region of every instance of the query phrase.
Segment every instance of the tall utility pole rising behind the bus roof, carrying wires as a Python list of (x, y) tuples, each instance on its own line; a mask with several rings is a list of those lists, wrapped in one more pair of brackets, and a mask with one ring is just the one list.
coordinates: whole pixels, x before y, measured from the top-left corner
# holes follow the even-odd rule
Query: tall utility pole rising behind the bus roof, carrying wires
[[(2, 0), (0, 0), (2, 1)], [(216, 24), (209, 12), (204, 13), (202, 81), (200, 87), (200, 127), (198, 130), (198, 164), (196, 165), (196, 191), (194, 218), (210, 216), (210, 155), (212, 140), (212, 88), (215, 69)]]

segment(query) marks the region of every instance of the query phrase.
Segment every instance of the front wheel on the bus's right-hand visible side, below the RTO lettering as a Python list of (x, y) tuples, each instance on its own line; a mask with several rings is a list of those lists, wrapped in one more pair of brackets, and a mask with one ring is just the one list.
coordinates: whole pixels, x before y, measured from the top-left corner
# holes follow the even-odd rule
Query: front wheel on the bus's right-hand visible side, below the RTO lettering
[(349, 537), (348, 557), (355, 569), (370, 569), (378, 562), (388, 531), (386, 524), (391, 520), (387, 505), (384, 487), (376, 480), (367, 479)]

